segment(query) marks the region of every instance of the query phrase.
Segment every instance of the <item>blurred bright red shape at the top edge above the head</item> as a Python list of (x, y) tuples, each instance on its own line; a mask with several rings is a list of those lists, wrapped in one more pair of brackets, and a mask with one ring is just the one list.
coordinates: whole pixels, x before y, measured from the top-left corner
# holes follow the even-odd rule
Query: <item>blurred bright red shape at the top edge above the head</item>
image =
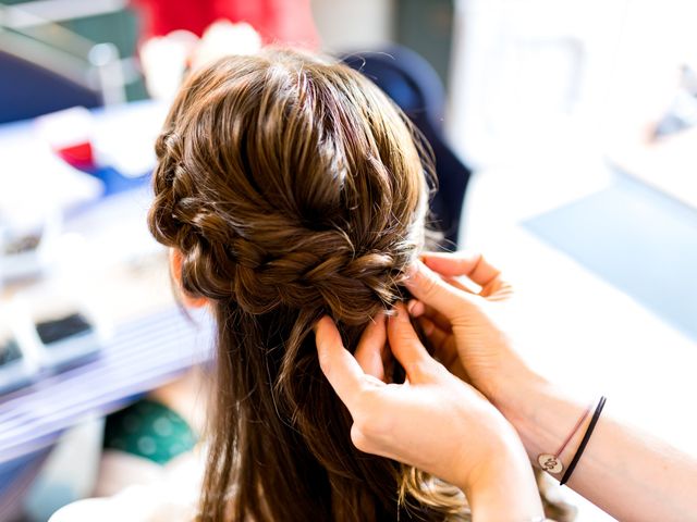
[(309, 0), (134, 0), (145, 14), (144, 39), (186, 29), (201, 36), (218, 20), (246, 22), (265, 44), (317, 48)]

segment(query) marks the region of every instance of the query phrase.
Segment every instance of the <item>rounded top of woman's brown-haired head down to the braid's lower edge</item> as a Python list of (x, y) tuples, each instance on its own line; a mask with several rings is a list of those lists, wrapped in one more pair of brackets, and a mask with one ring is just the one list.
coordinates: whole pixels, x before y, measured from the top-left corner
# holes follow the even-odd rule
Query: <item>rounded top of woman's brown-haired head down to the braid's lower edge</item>
[(354, 71), (272, 51), (182, 89), (158, 140), (156, 237), (184, 289), (250, 314), (364, 324), (423, 241), (426, 179), (399, 110)]

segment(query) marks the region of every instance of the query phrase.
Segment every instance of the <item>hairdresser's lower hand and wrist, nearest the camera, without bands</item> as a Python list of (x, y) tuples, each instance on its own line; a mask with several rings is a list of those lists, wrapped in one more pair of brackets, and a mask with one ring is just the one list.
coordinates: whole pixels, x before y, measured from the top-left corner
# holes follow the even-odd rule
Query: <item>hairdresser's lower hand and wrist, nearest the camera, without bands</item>
[[(395, 316), (381, 315), (366, 328), (355, 358), (331, 319), (316, 326), (319, 362), (353, 417), (356, 447), (457, 485), (476, 518), (540, 514), (531, 469), (513, 427), (481, 394), (428, 355), (404, 306), (395, 310)], [(404, 384), (384, 382), (388, 340), (406, 372)]]

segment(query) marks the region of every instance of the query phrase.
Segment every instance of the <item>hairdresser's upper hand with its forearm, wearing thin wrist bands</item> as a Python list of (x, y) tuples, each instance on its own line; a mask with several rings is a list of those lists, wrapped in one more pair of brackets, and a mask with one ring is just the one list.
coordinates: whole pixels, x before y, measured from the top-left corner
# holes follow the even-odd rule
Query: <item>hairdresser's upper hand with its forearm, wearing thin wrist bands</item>
[[(480, 290), (473, 291), (472, 283)], [(481, 254), (427, 253), (406, 286), (417, 299), (409, 312), (439, 359), (496, 405), (531, 460), (558, 447), (587, 406), (534, 373), (515, 352), (514, 339), (497, 321), (512, 295), (501, 273)], [(579, 433), (590, 419), (585, 422)], [(607, 413), (568, 485), (619, 520), (697, 520), (697, 459)]]

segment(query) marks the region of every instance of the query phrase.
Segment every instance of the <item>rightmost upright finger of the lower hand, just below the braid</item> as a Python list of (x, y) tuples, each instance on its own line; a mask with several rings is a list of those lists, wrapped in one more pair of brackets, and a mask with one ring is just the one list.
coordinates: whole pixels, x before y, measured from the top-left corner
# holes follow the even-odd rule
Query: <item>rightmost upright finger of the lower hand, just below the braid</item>
[(394, 311), (396, 314), (388, 321), (390, 348), (406, 371), (409, 381), (414, 383), (418, 381), (425, 366), (435, 361), (412, 326), (406, 307), (400, 302), (394, 307)]

